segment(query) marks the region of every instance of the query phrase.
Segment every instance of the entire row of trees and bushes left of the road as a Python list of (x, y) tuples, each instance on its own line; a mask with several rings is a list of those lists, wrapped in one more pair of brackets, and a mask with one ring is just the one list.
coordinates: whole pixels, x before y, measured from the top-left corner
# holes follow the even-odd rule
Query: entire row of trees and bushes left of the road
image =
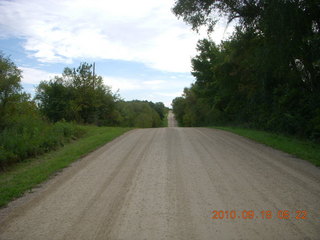
[(0, 169), (80, 137), (78, 124), (161, 127), (168, 110), (161, 102), (124, 101), (88, 63), (42, 81), (33, 98), (21, 78), (0, 53)]

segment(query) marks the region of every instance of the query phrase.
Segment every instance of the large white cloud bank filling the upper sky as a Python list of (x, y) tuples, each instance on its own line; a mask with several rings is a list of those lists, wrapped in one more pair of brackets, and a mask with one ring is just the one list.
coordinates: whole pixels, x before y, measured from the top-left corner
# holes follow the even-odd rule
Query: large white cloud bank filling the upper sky
[[(189, 72), (199, 36), (172, 14), (173, 4), (174, 0), (1, 1), (0, 37), (25, 39), (25, 49), (42, 62), (119, 59)], [(223, 31), (218, 28), (213, 39), (221, 39)]]

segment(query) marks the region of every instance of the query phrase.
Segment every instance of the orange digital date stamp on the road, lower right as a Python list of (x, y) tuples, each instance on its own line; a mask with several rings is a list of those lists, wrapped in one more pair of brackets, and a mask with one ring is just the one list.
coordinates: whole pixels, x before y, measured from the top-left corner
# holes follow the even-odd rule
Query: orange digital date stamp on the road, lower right
[(254, 210), (242, 210), (242, 211), (212, 211), (211, 219), (307, 219), (306, 210), (278, 210), (278, 211), (254, 211)]

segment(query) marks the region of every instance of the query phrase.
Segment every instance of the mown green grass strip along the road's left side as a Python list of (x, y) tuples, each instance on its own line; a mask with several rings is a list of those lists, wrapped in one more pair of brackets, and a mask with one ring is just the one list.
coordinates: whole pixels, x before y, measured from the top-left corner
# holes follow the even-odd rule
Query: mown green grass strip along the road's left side
[(81, 126), (85, 135), (56, 151), (27, 159), (0, 172), (0, 207), (47, 180), (81, 156), (113, 140), (131, 128)]

